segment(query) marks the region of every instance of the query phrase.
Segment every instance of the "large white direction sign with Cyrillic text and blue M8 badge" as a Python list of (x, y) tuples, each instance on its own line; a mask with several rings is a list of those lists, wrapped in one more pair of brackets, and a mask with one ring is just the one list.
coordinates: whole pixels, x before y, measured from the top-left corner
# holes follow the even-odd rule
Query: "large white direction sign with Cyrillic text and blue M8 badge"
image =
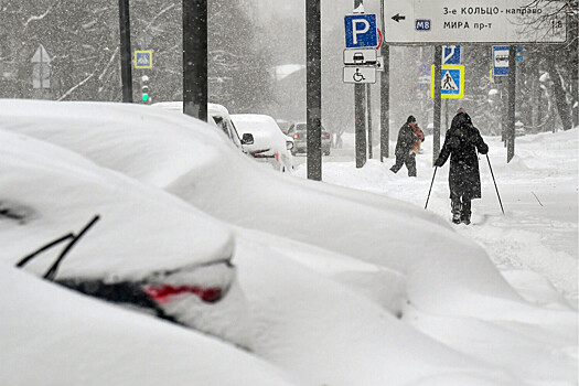
[(390, 1), (386, 43), (560, 43), (565, 12), (549, 0)]

